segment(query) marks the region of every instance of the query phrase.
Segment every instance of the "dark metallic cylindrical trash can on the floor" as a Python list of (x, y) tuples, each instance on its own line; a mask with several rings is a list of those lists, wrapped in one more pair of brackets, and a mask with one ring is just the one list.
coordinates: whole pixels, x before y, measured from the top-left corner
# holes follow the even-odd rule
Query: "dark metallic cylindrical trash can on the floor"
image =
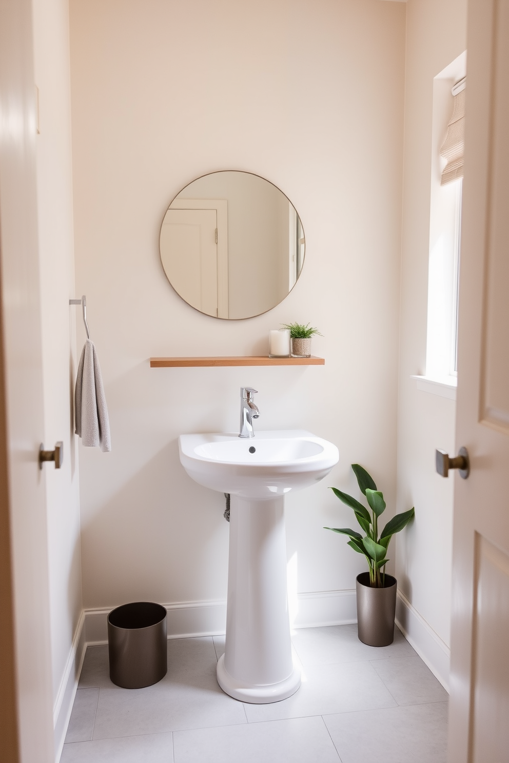
[(166, 675), (166, 609), (150, 601), (123, 604), (108, 615), (110, 678), (124, 689), (156, 684)]

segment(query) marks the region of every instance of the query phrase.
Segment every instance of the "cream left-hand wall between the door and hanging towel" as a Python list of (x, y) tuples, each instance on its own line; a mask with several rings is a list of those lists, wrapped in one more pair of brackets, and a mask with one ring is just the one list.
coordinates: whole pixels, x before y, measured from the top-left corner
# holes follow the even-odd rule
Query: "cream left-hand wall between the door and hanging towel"
[[(33, 0), (34, 69), (39, 89), (37, 208), (43, 343), (44, 446), (63, 441), (63, 466), (45, 467), (50, 632), (56, 747), (69, 710), (67, 678), (82, 614), (79, 479), (72, 427), (76, 307), (72, 230), (69, 10), (66, 0)], [(80, 308), (78, 308), (80, 309)], [(78, 314), (79, 317), (79, 314)], [(76, 646), (76, 645), (75, 645)]]

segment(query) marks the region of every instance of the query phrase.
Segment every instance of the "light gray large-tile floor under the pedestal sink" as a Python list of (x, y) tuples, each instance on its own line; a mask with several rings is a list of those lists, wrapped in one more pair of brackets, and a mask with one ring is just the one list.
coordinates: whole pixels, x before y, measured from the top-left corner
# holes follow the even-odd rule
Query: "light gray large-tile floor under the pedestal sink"
[(445, 763), (446, 691), (398, 629), (381, 649), (355, 625), (292, 642), (301, 688), (267, 705), (217, 686), (224, 636), (170, 639), (163, 681), (135, 690), (111, 683), (107, 646), (90, 646), (60, 763)]

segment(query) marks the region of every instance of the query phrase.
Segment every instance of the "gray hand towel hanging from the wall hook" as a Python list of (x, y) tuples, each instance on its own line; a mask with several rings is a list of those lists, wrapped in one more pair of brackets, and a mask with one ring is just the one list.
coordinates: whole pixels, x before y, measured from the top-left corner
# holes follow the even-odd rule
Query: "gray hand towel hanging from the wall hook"
[(111, 450), (110, 423), (102, 386), (101, 369), (94, 343), (88, 339), (79, 359), (74, 393), (76, 406), (76, 434), (89, 448), (101, 446), (102, 452)]

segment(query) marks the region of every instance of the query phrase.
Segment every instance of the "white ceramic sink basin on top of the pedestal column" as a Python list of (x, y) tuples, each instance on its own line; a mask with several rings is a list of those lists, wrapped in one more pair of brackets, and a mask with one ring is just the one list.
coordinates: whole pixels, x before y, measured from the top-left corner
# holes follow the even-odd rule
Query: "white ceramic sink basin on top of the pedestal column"
[(236, 434), (184, 434), (180, 461), (205, 488), (250, 498), (275, 498), (307, 488), (337, 464), (337, 447), (304, 430)]

